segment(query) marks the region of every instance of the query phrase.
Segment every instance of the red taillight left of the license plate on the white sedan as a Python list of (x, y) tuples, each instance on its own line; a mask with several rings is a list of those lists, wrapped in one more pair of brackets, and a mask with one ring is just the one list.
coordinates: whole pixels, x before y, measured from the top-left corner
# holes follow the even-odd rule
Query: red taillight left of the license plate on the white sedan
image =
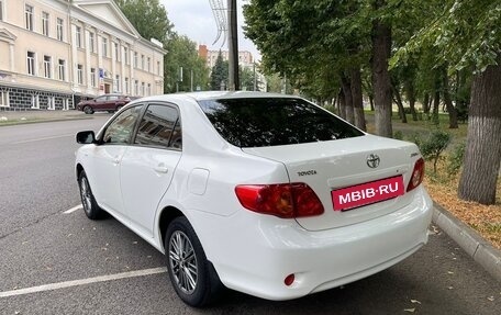
[(235, 188), (241, 204), (250, 211), (283, 218), (320, 215), (323, 205), (305, 183), (242, 184)]

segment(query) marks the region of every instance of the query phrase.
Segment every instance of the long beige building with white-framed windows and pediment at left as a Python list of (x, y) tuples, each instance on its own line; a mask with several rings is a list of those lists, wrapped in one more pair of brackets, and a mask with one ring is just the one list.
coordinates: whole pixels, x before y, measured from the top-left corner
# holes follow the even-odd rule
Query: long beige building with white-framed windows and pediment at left
[(0, 0), (0, 111), (163, 93), (165, 53), (112, 0)]

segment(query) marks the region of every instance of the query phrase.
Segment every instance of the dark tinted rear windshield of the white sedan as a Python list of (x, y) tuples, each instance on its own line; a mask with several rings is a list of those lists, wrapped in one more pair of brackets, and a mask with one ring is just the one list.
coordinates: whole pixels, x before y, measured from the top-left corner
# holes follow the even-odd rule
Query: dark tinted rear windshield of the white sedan
[(223, 99), (199, 103), (221, 136), (237, 147), (326, 142), (364, 135), (302, 99)]

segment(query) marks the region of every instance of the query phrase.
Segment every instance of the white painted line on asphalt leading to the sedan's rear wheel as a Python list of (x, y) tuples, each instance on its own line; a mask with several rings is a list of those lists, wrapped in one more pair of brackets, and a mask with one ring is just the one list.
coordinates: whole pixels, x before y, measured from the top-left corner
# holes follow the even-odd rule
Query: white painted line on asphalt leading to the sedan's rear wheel
[(115, 274), (100, 275), (100, 277), (94, 277), (94, 278), (87, 278), (87, 279), (80, 279), (80, 280), (73, 280), (73, 281), (44, 284), (44, 285), (38, 285), (38, 286), (24, 288), (24, 289), (12, 290), (12, 291), (4, 291), (4, 292), (0, 292), (0, 297), (53, 291), (53, 290), (58, 290), (58, 289), (64, 289), (64, 288), (85, 285), (85, 284), (104, 282), (104, 281), (113, 281), (113, 280), (134, 278), (134, 277), (144, 277), (144, 275), (151, 275), (151, 274), (157, 274), (157, 273), (164, 273), (164, 272), (167, 272), (166, 267), (121, 272), (121, 273), (115, 273)]

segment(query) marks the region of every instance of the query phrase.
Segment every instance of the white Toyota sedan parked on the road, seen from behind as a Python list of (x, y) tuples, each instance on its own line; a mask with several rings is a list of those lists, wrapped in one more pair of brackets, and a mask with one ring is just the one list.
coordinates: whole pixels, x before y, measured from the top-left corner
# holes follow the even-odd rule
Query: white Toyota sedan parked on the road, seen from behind
[(427, 241), (417, 147), (298, 97), (143, 98), (77, 142), (87, 216), (104, 211), (165, 252), (189, 305), (224, 288), (269, 300), (320, 292)]

